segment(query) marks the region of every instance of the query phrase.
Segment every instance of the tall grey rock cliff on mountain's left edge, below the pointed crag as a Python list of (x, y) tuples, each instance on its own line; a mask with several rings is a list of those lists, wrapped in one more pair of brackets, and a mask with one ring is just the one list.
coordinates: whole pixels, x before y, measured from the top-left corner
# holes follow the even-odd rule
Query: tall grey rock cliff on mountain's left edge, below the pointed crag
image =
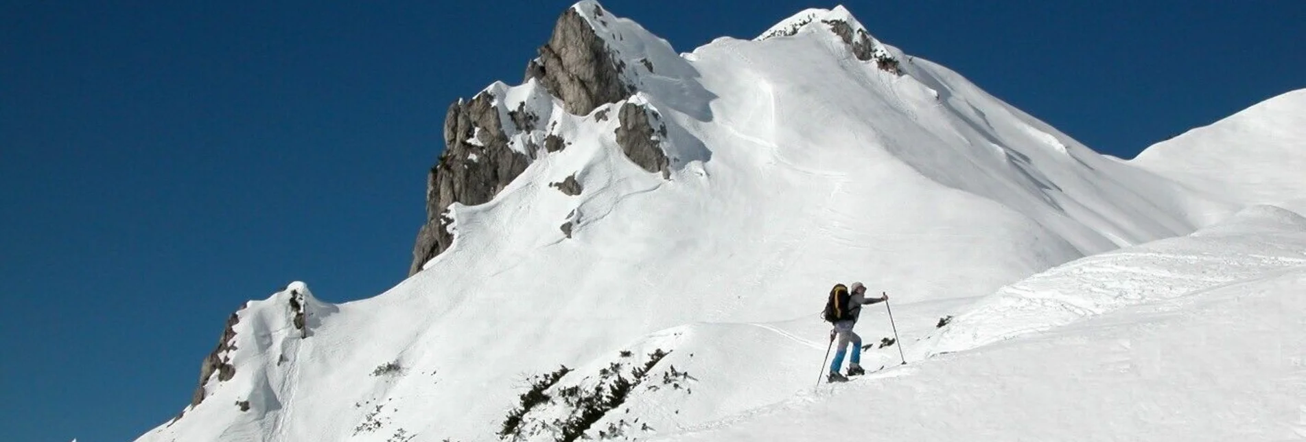
[[(427, 220), (418, 231), (409, 275), (453, 245), (453, 234), (447, 229), (452, 220), (444, 217), (451, 204), (490, 201), (530, 163), (530, 158), (508, 146), (492, 101), (488, 93), (477, 94), (469, 102), (460, 99), (444, 116), (445, 148), (427, 175)], [(513, 124), (532, 127), (537, 119), (522, 111), (513, 115)]]

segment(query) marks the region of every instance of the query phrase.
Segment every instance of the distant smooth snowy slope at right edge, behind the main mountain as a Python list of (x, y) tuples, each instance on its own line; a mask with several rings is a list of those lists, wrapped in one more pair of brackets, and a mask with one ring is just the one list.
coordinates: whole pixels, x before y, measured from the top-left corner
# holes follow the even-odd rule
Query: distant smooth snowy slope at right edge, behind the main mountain
[(1242, 204), (1306, 199), (1306, 89), (1157, 143), (1130, 163)]

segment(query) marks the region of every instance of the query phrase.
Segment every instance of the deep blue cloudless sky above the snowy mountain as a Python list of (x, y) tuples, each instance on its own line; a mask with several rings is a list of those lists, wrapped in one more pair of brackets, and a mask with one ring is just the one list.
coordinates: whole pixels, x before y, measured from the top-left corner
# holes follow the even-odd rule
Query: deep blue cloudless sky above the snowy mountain
[[(569, 1), (64, 4), (0, 5), (7, 441), (129, 441), (246, 299), (400, 281), (447, 106), (518, 82)], [(605, 5), (690, 51), (833, 4)], [(1306, 88), (1306, 1), (846, 5), (1122, 157)]]

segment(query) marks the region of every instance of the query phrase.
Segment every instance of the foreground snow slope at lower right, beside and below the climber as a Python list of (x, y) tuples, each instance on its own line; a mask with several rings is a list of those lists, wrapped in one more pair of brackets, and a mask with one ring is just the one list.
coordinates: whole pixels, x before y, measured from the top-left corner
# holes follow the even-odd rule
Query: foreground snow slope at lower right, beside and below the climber
[(1306, 218), (1256, 207), (1004, 288), (917, 344), (955, 353), (654, 441), (1299, 441), (1303, 326)]

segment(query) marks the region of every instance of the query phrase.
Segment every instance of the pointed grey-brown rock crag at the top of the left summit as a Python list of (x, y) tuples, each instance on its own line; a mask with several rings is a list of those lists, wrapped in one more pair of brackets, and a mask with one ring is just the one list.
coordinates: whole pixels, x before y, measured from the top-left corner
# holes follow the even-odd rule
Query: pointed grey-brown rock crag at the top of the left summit
[[(597, 8), (597, 5), (596, 5)], [(602, 14), (598, 10), (596, 16)], [(567, 9), (554, 26), (539, 58), (526, 64), (526, 80), (537, 78), (565, 110), (586, 115), (605, 103), (629, 97), (633, 88), (622, 81), (626, 61), (616, 60), (594, 29), (575, 9)]]

